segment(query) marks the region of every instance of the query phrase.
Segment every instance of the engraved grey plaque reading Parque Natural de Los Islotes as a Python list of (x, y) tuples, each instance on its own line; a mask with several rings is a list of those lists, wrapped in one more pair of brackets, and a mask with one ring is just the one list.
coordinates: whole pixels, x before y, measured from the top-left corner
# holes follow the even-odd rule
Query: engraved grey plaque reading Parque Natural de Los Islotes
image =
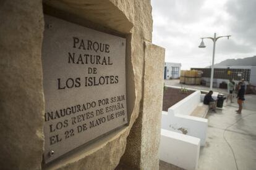
[(45, 15), (45, 163), (127, 123), (126, 39)]

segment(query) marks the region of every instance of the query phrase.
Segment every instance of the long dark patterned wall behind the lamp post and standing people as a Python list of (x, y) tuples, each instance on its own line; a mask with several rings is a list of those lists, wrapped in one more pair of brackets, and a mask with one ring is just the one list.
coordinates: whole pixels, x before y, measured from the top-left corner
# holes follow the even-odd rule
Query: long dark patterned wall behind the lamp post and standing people
[[(211, 68), (191, 68), (191, 70), (201, 70), (204, 85), (210, 86)], [(220, 87), (223, 82), (228, 83), (229, 79), (234, 79), (236, 83), (244, 79), (246, 83), (256, 86), (256, 66), (217, 66), (214, 68), (213, 87)]]

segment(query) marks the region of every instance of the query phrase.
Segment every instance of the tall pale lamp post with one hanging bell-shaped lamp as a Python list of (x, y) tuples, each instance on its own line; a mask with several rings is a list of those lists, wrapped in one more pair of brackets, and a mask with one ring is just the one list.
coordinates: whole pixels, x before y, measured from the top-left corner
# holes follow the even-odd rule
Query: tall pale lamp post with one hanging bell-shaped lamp
[(219, 39), (219, 38), (223, 38), (223, 37), (227, 37), (229, 39), (229, 36), (231, 35), (228, 35), (228, 36), (218, 36), (216, 37), (216, 33), (214, 33), (214, 37), (203, 37), (201, 38), (202, 39), (202, 42), (200, 44), (200, 46), (198, 46), (199, 48), (205, 48), (205, 44), (203, 43), (203, 39), (205, 38), (208, 38), (208, 39), (211, 39), (213, 41), (213, 62), (211, 63), (211, 81), (210, 81), (210, 90), (213, 89), (213, 71), (214, 71), (214, 57), (215, 57), (215, 44), (216, 44), (216, 41)]

